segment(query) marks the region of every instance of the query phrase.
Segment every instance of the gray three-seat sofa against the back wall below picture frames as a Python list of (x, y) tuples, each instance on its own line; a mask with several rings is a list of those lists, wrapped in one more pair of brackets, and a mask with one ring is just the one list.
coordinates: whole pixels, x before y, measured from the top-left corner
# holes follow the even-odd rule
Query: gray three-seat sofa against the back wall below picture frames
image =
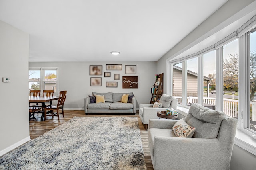
[(104, 95), (105, 103), (90, 103), (90, 97), (84, 99), (84, 113), (92, 114), (108, 114), (108, 113), (118, 113), (118, 114), (133, 114), (136, 113), (136, 98), (132, 97), (132, 103), (122, 103), (121, 99), (123, 94), (129, 94), (132, 96), (133, 93), (96, 93), (92, 92), (92, 95)]

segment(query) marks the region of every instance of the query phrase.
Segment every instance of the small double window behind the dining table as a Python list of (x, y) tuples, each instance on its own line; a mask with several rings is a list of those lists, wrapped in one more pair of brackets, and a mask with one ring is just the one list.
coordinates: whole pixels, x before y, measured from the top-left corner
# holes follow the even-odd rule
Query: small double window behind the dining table
[(30, 68), (29, 90), (54, 90), (57, 92), (57, 68)]

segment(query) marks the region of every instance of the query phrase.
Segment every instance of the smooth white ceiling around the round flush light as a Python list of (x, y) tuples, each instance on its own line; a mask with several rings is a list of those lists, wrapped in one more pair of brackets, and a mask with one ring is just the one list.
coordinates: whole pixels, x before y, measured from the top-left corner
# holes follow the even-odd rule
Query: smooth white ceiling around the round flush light
[(0, 20), (29, 34), (30, 62), (157, 61), (227, 1), (0, 0)]

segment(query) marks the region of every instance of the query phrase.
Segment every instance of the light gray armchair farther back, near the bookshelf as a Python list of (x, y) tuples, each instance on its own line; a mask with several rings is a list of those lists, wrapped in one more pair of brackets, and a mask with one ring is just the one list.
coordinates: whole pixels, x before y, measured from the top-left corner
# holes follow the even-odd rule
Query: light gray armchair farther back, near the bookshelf
[(139, 116), (142, 123), (146, 126), (145, 129), (148, 129), (149, 119), (159, 119), (156, 112), (170, 108), (176, 109), (178, 104), (178, 100), (174, 98), (174, 96), (169, 96), (167, 94), (161, 96), (160, 102), (162, 103), (162, 108), (153, 108), (154, 104), (139, 105)]

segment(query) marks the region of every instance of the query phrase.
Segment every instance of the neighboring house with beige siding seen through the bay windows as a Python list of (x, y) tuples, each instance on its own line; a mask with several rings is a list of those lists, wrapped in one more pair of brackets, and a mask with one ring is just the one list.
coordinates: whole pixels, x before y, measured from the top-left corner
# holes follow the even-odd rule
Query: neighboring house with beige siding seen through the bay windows
[[(187, 70), (187, 96), (197, 96), (197, 73)], [(204, 85), (208, 85), (211, 78), (204, 76)], [(182, 68), (173, 66), (173, 95), (182, 96)], [(209, 92), (209, 86), (207, 86)]]

